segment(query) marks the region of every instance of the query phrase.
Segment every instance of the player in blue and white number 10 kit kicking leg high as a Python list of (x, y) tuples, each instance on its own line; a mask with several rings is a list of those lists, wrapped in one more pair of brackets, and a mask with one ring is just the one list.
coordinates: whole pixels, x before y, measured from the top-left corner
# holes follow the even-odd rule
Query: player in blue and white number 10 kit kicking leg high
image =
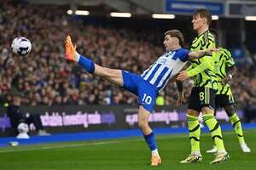
[[(65, 45), (66, 59), (79, 63), (90, 74), (105, 78), (138, 96), (138, 126), (142, 129), (144, 139), (151, 150), (151, 166), (158, 166), (161, 163), (154, 132), (148, 126), (148, 118), (154, 108), (157, 95), (160, 90), (166, 87), (167, 82), (176, 77), (177, 73), (183, 69), (188, 59), (195, 59), (204, 54), (212, 53), (211, 49), (189, 52), (182, 48), (183, 34), (177, 30), (166, 31), (163, 44), (166, 53), (162, 54), (142, 75), (96, 65), (88, 57), (84, 57), (76, 51), (69, 36)], [(182, 86), (179, 83), (177, 85), (181, 91)], [(179, 96), (183, 96), (183, 94), (179, 93)], [(181, 102), (182, 99), (178, 101)]]

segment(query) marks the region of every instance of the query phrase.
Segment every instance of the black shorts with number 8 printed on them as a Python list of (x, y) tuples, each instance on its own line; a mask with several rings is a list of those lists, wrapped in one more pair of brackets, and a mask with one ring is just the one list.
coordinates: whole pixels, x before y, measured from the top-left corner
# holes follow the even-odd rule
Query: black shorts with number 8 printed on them
[(216, 90), (207, 87), (194, 87), (189, 97), (189, 109), (201, 111), (203, 107), (215, 109)]

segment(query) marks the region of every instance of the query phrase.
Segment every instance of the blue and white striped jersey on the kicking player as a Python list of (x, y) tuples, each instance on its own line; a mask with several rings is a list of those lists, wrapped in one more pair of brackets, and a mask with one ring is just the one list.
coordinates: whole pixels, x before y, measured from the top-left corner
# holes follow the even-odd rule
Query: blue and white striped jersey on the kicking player
[(188, 54), (189, 50), (184, 48), (168, 51), (144, 71), (141, 77), (160, 91), (166, 87), (172, 77), (182, 70), (188, 60)]

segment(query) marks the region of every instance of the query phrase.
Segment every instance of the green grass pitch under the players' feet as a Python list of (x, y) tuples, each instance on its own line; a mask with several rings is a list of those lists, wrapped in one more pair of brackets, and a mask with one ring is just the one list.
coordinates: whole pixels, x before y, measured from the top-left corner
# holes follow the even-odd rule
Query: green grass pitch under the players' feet
[(157, 142), (162, 157), (160, 167), (149, 167), (150, 151), (143, 138), (85, 141), (59, 144), (37, 144), (0, 148), (0, 170), (255, 170), (256, 130), (245, 131), (252, 153), (241, 152), (233, 132), (224, 133), (224, 143), (230, 152), (230, 160), (209, 165), (213, 155), (205, 151), (212, 148), (209, 134), (201, 136), (203, 160), (195, 164), (179, 164), (189, 154), (187, 135), (160, 135)]

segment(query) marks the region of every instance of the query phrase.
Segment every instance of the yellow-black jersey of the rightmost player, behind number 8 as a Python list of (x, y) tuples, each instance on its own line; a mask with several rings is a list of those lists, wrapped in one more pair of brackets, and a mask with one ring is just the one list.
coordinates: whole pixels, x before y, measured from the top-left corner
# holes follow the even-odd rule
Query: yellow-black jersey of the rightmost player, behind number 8
[(215, 73), (218, 80), (218, 93), (230, 95), (230, 85), (227, 83), (223, 85), (221, 82), (224, 77), (227, 76), (227, 68), (235, 65), (235, 61), (232, 58), (230, 51), (225, 48), (219, 48), (217, 53), (213, 53), (212, 56), (215, 60)]

